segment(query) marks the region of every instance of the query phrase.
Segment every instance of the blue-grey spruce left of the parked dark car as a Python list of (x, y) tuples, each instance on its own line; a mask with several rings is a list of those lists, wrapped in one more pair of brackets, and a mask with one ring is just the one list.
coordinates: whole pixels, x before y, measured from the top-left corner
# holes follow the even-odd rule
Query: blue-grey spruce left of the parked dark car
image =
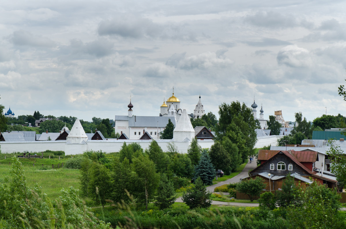
[(215, 168), (211, 163), (207, 152), (203, 151), (198, 165), (195, 167), (194, 178), (200, 177), (203, 184), (212, 185), (216, 175)]

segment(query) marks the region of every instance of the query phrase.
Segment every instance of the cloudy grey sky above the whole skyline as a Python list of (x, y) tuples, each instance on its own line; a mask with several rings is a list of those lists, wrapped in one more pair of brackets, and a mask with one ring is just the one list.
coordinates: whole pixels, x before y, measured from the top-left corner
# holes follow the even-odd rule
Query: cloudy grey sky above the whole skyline
[[(345, 1), (3, 1), (0, 104), (33, 114), (157, 116), (255, 96), (264, 117), (345, 114)], [(259, 112), (257, 113), (259, 116)], [(218, 115), (217, 115), (218, 116)]]

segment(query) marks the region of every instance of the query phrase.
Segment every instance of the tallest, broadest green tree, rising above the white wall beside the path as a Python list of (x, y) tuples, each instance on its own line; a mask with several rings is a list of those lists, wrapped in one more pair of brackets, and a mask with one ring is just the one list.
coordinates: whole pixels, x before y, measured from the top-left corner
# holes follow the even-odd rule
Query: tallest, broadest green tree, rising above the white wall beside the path
[(216, 126), (216, 140), (228, 137), (237, 145), (239, 155), (245, 162), (249, 155), (254, 154), (257, 141), (255, 132), (256, 122), (252, 109), (239, 101), (231, 104), (222, 103), (219, 106), (219, 125)]

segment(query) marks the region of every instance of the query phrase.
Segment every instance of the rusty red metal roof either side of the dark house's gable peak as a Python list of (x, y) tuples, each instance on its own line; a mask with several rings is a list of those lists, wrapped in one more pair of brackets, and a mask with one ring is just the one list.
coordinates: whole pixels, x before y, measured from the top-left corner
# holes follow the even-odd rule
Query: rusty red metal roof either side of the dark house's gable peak
[[(277, 153), (279, 153), (281, 150), (265, 150), (260, 149), (258, 150), (258, 160), (264, 160), (267, 161), (273, 156), (275, 156)], [(283, 151), (282, 151), (283, 152)], [(299, 162), (316, 162), (317, 159), (317, 152), (316, 151), (285, 151), (293, 155)]]

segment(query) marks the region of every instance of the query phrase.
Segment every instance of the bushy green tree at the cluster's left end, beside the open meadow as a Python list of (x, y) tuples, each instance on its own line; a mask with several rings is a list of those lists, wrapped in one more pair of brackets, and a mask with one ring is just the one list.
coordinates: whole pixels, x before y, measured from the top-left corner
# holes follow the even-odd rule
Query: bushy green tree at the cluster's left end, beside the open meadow
[(109, 170), (99, 163), (93, 163), (90, 168), (89, 193), (95, 203), (104, 207), (106, 200), (110, 199), (111, 179)]

